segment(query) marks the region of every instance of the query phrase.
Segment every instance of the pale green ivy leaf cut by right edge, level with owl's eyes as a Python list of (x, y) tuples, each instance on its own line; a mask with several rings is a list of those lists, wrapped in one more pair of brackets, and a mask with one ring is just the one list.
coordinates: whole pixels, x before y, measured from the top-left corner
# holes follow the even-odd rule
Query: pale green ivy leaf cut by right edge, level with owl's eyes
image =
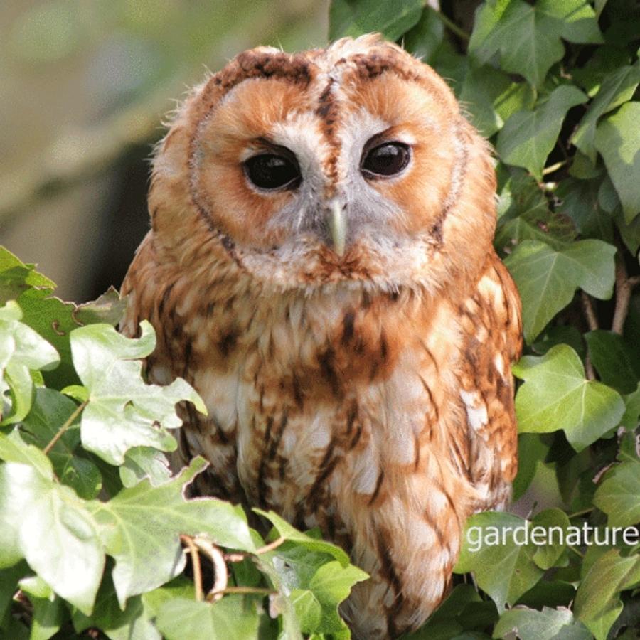
[(614, 183), (624, 220), (631, 223), (640, 213), (640, 102), (626, 102), (598, 124), (595, 144)]

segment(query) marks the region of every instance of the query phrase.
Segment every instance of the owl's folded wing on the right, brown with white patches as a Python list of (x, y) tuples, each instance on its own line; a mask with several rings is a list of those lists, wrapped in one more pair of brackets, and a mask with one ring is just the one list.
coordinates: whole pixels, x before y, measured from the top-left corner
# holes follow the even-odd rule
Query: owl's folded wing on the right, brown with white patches
[(511, 497), (518, 469), (511, 362), (520, 357), (522, 341), (518, 291), (495, 254), (459, 313), (465, 466), (478, 492), (476, 509), (501, 508)]

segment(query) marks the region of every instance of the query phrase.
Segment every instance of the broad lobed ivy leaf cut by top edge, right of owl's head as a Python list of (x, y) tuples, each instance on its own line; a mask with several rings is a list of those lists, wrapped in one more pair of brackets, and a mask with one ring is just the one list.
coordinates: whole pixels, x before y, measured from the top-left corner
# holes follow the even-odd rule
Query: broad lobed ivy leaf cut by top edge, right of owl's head
[(602, 42), (592, 7), (585, 0), (489, 0), (476, 12), (469, 53), (482, 63), (500, 53), (501, 67), (540, 86), (571, 42)]

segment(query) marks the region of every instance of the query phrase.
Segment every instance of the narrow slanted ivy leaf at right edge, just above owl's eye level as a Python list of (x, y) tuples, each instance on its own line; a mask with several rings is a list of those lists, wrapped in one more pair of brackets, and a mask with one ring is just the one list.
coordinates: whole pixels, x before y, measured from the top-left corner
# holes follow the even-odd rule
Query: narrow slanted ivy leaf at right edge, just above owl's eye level
[(580, 126), (570, 138), (592, 163), (596, 161), (596, 124), (605, 113), (631, 100), (640, 82), (640, 62), (632, 67), (624, 65), (607, 74), (594, 101), (585, 113)]

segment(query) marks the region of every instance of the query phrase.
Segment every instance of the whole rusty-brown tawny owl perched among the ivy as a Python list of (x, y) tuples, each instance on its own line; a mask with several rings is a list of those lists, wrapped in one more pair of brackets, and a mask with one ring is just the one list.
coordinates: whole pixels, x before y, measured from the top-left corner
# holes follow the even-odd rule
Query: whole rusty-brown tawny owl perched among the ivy
[(516, 473), (516, 288), (491, 245), (488, 145), (377, 36), (241, 53), (159, 145), (124, 282), (156, 383), (191, 381), (199, 491), (319, 526), (370, 580), (356, 636), (422, 624), (470, 513)]

